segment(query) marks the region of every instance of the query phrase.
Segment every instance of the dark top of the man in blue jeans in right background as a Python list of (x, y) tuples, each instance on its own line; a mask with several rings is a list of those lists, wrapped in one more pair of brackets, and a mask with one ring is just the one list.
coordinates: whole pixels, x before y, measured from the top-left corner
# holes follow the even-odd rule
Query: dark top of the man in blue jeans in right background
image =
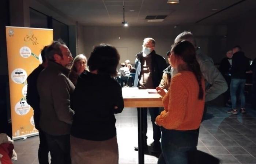
[(249, 59), (244, 52), (238, 51), (232, 56), (232, 67), (230, 69), (232, 79), (246, 79), (246, 71), (249, 70)]

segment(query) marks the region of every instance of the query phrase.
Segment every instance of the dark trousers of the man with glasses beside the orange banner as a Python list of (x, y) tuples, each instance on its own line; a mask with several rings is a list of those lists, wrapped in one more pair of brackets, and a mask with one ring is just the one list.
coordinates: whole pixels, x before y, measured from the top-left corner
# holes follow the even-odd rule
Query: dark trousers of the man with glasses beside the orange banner
[(70, 134), (52, 136), (45, 133), (52, 157), (52, 164), (71, 164)]

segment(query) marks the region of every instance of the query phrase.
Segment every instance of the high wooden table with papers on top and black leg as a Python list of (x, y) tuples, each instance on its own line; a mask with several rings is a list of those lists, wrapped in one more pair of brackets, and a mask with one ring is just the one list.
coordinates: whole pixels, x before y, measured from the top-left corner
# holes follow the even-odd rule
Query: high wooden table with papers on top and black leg
[(124, 107), (138, 108), (138, 155), (139, 164), (144, 164), (144, 122), (142, 108), (162, 107), (162, 97), (158, 93), (148, 93), (146, 89), (123, 88)]

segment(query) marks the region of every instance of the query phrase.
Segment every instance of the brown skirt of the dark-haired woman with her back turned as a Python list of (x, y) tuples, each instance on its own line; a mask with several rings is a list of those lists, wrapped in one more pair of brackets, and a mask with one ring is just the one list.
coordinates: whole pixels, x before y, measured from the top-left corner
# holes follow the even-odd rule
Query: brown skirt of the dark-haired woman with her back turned
[(91, 141), (70, 136), (72, 164), (118, 164), (116, 136), (106, 141)]

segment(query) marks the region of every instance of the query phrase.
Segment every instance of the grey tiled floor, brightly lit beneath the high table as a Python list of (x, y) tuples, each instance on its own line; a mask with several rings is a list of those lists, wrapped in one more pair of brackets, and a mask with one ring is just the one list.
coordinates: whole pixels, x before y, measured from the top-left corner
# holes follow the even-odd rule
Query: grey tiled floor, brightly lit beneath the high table
[[(248, 109), (246, 114), (230, 115), (225, 113), (226, 110), (228, 108), (208, 106), (208, 119), (201, 124), (197, 147), (201, 152), (200, 163), (210, 164), (218, 158), (222, 164), (256, 164), (256, 111)], [(150, 116), (147, 118), (150, 145), (153, 142), (153, 130)], [(138, 143), (137, 110), (125, 108), (116, 115), (116, 119), (119, 163), (136, 164), (138, 152), (134, 151), (134, 146)], [(38, 136), (25, 141), (16, 140), (14, 145), (18, 161), (15, 163), (38, 164), (38, 143)], [(157, 160), (153, 155), (145, 155), (145, 164), (156, 164)]]

